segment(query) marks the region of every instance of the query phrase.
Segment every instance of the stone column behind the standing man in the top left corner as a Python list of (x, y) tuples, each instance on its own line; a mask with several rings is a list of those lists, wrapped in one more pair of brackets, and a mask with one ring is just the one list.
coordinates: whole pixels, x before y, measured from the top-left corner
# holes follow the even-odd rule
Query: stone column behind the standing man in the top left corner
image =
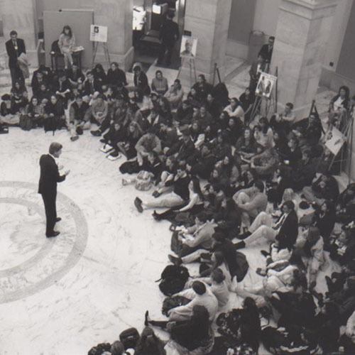
[(0, 14), (3, 21), (5, 39), (10, 39), (10, 31), (17, 31), (18, 38), (25, 40), (26, 52), (31, 67), (38, 67), (34, 1), (0, 0)]

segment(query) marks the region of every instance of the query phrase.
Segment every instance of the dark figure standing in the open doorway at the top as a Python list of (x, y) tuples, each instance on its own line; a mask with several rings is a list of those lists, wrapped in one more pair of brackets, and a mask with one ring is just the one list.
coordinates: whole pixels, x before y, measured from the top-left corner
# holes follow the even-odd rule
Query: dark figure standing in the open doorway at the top
[(173, 50), (175, 42), (179, 39), (179, 26), (178, 23), (173, 21), (174, 13), (173, 11), (168, 12), (168, 16), (163, 21), (163, 24), (160, 26), (159, 39), (161, 40), (160, 53), (158, 57), (157, 64), (163, 64), (163, 60), (166, 54), (166, 64), (171, 64), (171, 57), (173, 55)]

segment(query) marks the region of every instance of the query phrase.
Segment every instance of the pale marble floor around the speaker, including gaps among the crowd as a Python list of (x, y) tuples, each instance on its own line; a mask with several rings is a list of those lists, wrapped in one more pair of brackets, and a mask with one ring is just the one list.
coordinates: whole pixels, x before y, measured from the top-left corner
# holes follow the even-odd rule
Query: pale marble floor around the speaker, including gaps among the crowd
[[(329, 92), (322, 95), (325, 102)], [(59, 186), (61, 234), (45, 239), (38, 160), (52, 141), (63, 144), (59, 163), (71, 173)], [(87, 354), (127, 327), (141, 330), (146, 310), (163, 317), (154, 281), (168, 263), (168, 223), (138, 214), (133, 198), (149, 192), (122, 187), (122, 159), (111, 162), (99, 147), (89, 132), (76, 142), (67, 131), (0, 135), (0, 355)], [(261, 280), (259, 250), (245, 251), (244, 285)], [(234, 294), (227, 307), (240, 303)]]

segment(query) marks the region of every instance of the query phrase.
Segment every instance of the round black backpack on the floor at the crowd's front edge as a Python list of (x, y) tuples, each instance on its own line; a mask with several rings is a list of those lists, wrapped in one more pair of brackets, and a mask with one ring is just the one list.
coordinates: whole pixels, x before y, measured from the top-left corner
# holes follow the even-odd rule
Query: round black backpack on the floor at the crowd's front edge
[(160, 280), (157, 281), (160, 281), (160, 291), (165, 296), (171, 296), (182, 291), (189, 276), (189, 271), (184, 266), (166, 266), (161, 273)]

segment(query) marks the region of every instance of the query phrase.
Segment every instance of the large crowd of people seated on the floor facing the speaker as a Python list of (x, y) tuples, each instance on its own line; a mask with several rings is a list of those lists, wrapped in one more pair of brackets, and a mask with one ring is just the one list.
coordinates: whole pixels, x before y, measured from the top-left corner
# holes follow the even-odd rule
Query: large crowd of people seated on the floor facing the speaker
[[(147, 311), (141, 335), (128, 329), (89, 354), (258, 354), (261, 344), (272, 354), (355, 354), (355, 184), (339, 193), (322, 168), (317, 111), (297, 119), (288, 103), (280, 114), (252, 117), (249, 88), (229, 99), (224, 84), (199, 75), (184, 93), (160, 70), (151, 84), (140, 65), (133, 72), (129, 86), (115, 62), (85, 74), (40, 66), (31, 99), (20, 82), (1, 97), (3, 133), (65, 128), (76, 141), (92, 129), (107, 158), (126, 158), (123, 185), (153, 190), (136, 197), (138, 212), (171, 223), (172, 265), (160, 281), (165, 320)], [(329, 127), (346, 125), (354, 102), (342, 87)], [(257, 244), (267, 246), (265, 261), (248, 270), (239, 250)], [(324, 278), (330, 262), (336, 271)], [(244, 287), (247, 272), (260, 283)], [(241, 308), (233, 293), (244, 298)], [(168, 343), (152, 327), (168, 332)]]

